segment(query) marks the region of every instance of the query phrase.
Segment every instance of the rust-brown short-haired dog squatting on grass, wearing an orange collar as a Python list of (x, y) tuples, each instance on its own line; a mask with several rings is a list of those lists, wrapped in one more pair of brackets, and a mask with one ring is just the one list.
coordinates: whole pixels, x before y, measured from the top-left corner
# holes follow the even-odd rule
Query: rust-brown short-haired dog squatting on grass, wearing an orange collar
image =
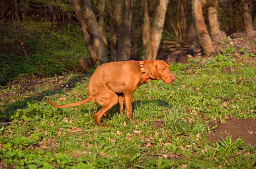
[(105, 63), (92, 73), (88, 85), (88, 98), (65, 105), (57, 105), (51, 101), (49, 103), (56, 108), (66, 108), (87, 102), (97, 102), (102, 108), (93, 117), (98, 126), (101, 126), (102, 115), (107, 113), (117, 103), (117, 100), (119, 112), (123, 115), (123, 101), (125, 100), (127, 117), (133, 123), (131, 108), (133, 92), (146, 81), (160, 79), (166, 83), (172, 83), (175, 79), (169, 70), (169, 65), (162, 60)]

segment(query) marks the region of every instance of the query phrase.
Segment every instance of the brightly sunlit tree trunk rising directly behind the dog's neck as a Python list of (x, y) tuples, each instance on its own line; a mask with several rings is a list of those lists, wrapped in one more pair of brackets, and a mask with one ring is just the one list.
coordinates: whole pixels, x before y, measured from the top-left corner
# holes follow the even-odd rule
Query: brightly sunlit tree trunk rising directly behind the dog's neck
[(163, 29), (164, 20), (166, 16), (166, 10), (169, 0), (158, 0), (156, 3), (156, 10), (152, 20), (150, 39), (147, 43), (145, 51), (145, 60), (156, 60), (158, 48), (160, 45)]

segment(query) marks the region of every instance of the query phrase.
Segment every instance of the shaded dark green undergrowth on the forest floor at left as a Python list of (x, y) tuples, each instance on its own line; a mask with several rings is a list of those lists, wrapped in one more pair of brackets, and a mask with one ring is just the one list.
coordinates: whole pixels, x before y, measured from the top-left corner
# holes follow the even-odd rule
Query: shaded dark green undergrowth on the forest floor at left
[[(80, 62), (85, 62), (89, 56), (80, 29), (70, 26), (67, 30), (50, 22), (38, 24), (31, 21), (23, 24), (28, 60), (20, 49), (12, 26), (1, 27), (0, 35), (5, 36), (0, 43), (0, 85), (31, 75), (49, 77), (65, 72), (84, 71)], [(7, 29), (9, 31), (6, 34)]]

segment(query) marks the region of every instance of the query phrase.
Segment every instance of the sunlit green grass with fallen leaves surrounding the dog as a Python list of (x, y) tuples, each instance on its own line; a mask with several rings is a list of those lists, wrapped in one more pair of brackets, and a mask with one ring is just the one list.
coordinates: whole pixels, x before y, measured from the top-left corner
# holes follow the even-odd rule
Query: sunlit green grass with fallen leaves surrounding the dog
[[(174, 64), (174, 83), (150, 81), (140, 86), (133, 94), (135, 125), (119, 115), (117, 106), (99, 128), (92, 117), (100, 108), (95, 103), (61, 110), (46, 104), (86, 98), (89, 77), (62, 77), (63, 86), (71, 79), (77, 78), (77, 83), (70, 91), (49, 92), (45, 101), (28, 102), (4, 116), (31, 123), (1, 129), (0, 159), (17, 168), (253, 168), (255, 147), (231, 138), (211, 143), (204, 134), (210, 121), (226, 115), (256, 118), (255, 61), (216, 63)], [(223, 102), (229, 109), (221, 106)], [(156, 121), (165, 125), (157, 126)]]

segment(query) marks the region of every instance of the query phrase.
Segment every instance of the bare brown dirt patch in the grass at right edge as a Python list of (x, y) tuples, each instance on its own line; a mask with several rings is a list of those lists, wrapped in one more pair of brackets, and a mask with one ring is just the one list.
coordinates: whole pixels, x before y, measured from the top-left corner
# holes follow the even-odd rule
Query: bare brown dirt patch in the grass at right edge
[(256, 120), (253, 118), (237, 120), (229, 117), (225, 123), (218, 122), (214, 132), (207, 133), (207, 138), (211, 141), (218, 141), (227, 135), (231, 136), (233, 141), (242, 138), (245, 144), (256, 146)]

